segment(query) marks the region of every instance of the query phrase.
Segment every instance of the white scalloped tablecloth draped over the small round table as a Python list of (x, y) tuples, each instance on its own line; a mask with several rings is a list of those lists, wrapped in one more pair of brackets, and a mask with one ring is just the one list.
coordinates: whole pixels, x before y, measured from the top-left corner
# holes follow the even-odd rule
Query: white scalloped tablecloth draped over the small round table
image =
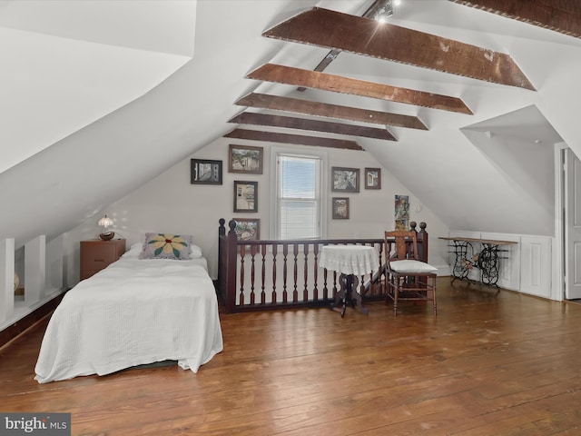
[(378, 253), (369, 245), (325, 245), (319, 265), (343, 274), (364, 275), (379, 270)]

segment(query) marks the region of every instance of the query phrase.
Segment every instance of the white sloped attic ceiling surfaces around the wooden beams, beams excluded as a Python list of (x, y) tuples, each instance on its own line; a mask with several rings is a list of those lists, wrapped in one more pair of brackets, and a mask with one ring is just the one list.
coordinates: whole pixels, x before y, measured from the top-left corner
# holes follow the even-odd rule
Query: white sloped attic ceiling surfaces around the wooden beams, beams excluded
[[(296, 87), (244, 76), (267, 62), (312, 69), (329, 50), (261, 33), (314, 5), (361, 15), (370, 3), (0, 2), (0, 239), (15, 237), (18, 247), (83, 223), (229, 132), (242, 95), (307, 98)], [(414, 114), (428, 124), (428, 131), (393, 128), (397, 142), (358, 142), (449, 228), (552, 234), (550, 198), (536, 197), (527, 172), (553, 163), (546, 153), (527, 153), (529, 126), (511, 131), (527, 132), (518, 140), (522, 155), (505, 153), (499, 144), (508, 140), (495, 129), (534, 107), (539, 132), (551, 134), (547, 147), (562, 139), (581, 154), (579, 40), (447, 0), (401, 0), (391, 20), (510, 54), (537, 91), (341, 53), (328, 73), (458, 96), (474, 114), (315, 90), (309, 98)], [(499, 117), (501, 124), (487, 125)], [(503, 139), (487, 150), (471, 138), (479, 132)], [(524, 163), (498, 164), (505, 159)], [(522, 173), (508, 176), (516, 169)]]

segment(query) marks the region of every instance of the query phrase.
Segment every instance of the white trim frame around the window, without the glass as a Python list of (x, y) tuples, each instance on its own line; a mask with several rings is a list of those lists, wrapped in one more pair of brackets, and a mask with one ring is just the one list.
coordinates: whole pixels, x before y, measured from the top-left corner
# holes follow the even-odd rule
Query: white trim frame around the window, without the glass
[(281, 155), (289, 155), (293, 157), (302, 158), (317, 158), (320, 159), (320, 239), (327, 238), (327, 202), (329, 195), (328, 191), (328, 160), (329, 154), (324, 151), (306, 151), (297, 150), (286, 147), (271, 147), (271, 210), (270, 210), (270, 238), (278, 240), (278, 223), (279, 223), (279, 157)]

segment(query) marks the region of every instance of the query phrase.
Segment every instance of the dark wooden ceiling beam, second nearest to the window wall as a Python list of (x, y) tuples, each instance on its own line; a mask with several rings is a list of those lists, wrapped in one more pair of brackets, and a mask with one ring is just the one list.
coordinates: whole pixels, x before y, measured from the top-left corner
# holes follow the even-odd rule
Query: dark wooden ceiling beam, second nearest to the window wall
[(284, 127), (287, 129), (312, 130), (329, 134), (347, 134), (350, 136), (363, 136), (367, 138), (384, 139), (387, 141), (397, 141), (393, 134), (391, 134), (387, 129), (378, 129), (364, 125), (332, 123), (329, 121), (307, 120), (293, 116), (243, 112), (231, 118), (228, 123), (268, 125), (273, 127)]

